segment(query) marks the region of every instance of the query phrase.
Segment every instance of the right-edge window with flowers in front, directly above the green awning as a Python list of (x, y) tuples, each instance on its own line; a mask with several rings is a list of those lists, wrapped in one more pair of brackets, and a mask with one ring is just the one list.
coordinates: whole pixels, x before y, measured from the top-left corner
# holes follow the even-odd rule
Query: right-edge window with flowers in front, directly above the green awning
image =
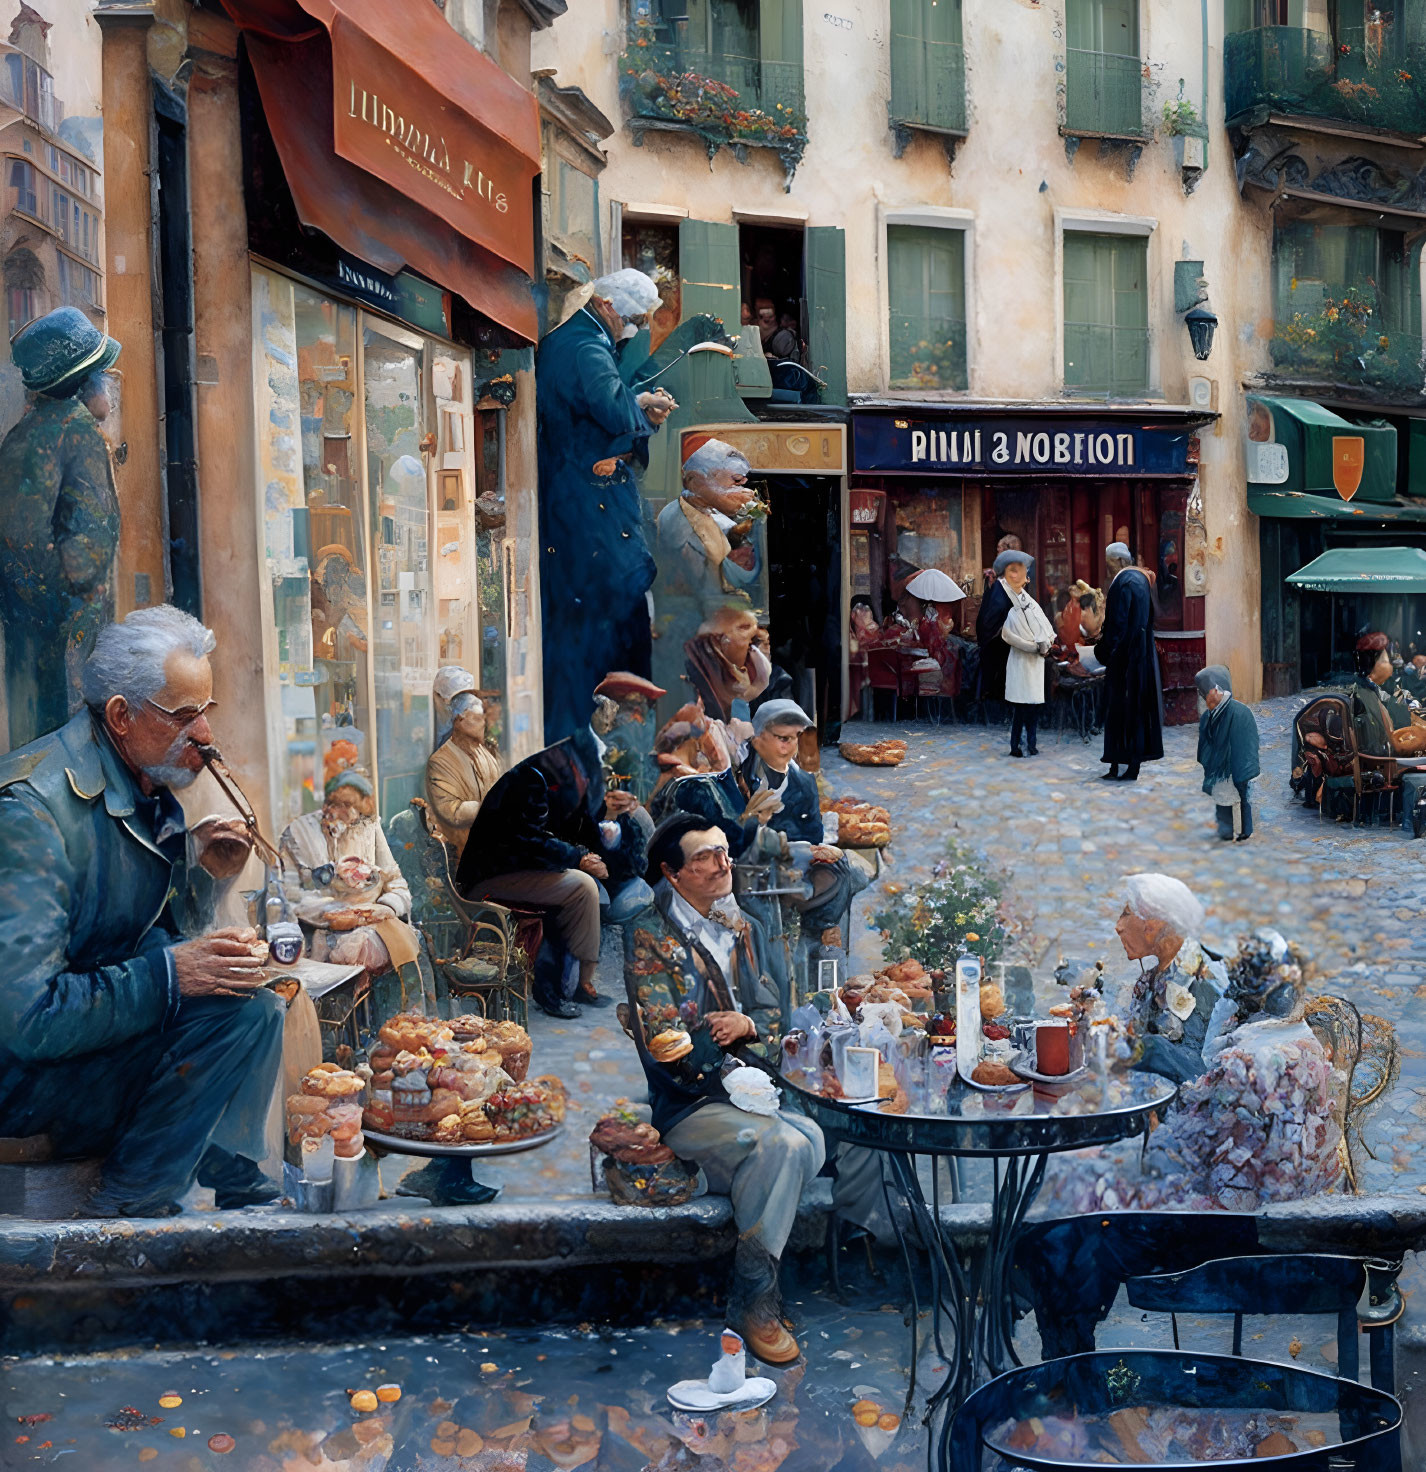
[(1422, 394), (1422, 246), (1400, 230), (1283, 221), (1273, 233), (1273, 367)]

